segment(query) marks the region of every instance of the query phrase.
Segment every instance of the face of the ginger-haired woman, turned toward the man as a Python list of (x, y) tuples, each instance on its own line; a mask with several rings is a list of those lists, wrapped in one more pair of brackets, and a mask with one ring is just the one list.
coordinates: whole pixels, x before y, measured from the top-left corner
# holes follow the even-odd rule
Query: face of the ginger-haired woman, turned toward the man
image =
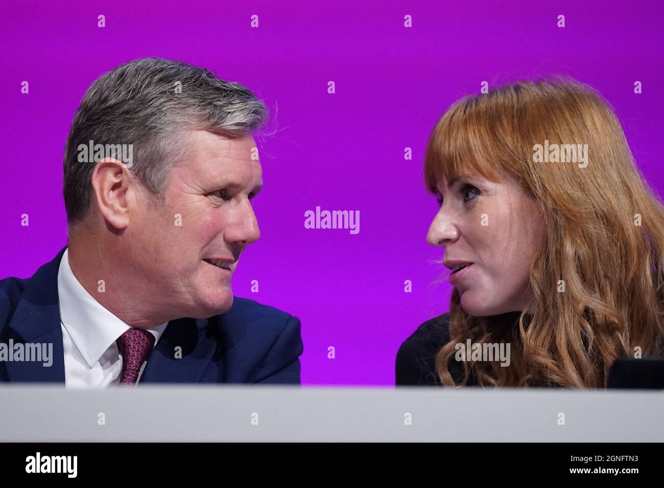
[(535, 199), (517, 180), (461, 177), (438, 185), (441, 204), (427, 240), (445, 248), (446, 267), (461, 307), (472, 316), (533, 313), (530, 268), (544, 226)]

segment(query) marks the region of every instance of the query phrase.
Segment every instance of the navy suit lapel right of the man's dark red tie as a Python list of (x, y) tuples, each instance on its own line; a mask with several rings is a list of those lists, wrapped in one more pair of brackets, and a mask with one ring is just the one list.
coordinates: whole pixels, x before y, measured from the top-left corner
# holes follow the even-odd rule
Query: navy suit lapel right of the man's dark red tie
[[(139, 383), (204, 382), (203, 374), (216, 350), (216, 342), (205, 336), (206, 326), (207, 319), (171, 320), (152, 351)], [(178, 351), (181, 357), (176, 357)]]

